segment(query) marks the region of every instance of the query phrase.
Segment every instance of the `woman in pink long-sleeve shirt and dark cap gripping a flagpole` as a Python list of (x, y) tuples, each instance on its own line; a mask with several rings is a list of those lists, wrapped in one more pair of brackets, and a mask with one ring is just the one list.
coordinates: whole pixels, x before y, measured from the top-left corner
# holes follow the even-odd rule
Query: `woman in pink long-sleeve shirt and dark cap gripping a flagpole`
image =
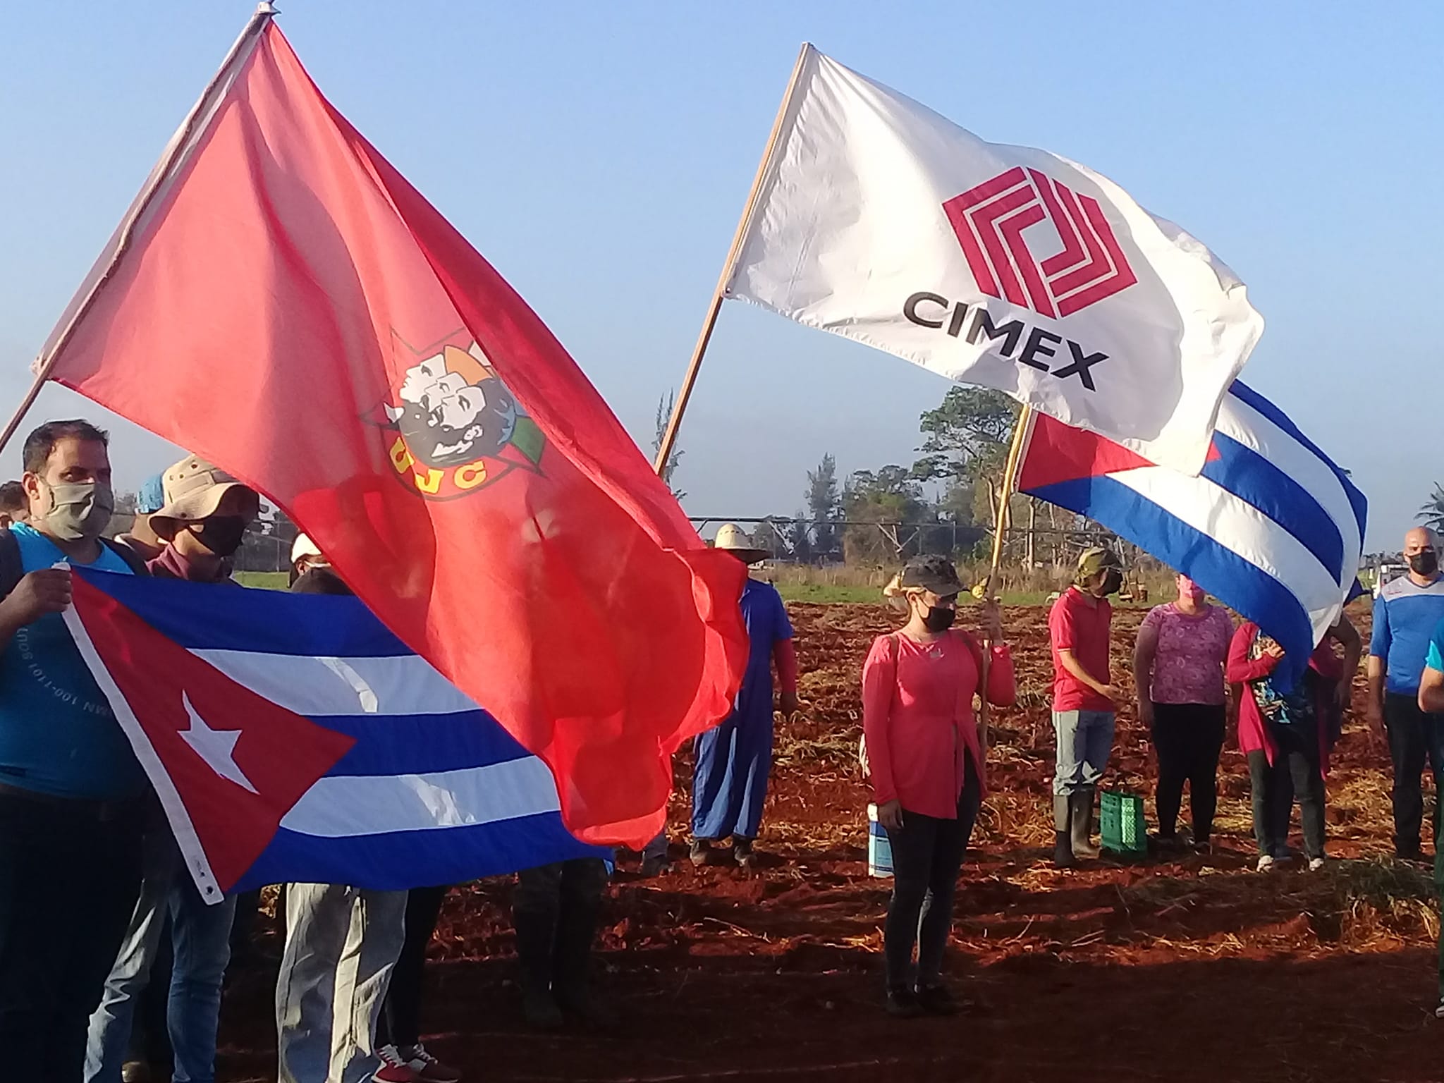
[[(983, 796), (983, 747), (973, 719), (982, 683), (978, 641), (953, 630), (963, 585), (953, 563), (920, 556), (885, 593), (907, 606), (901, 631), (879, 635), (862, 667), (862, 729), (878, 822), (892, 845), (892, 901), (884, 930), (887, 1006), (892, 1015), (950, 1015), (941, 983), (953, 924), (953, 888)], [(988, 702), (1011, 706), (1012, 658), (989, 605)], [(917, 972), (913, 949), (917, 946)]]

